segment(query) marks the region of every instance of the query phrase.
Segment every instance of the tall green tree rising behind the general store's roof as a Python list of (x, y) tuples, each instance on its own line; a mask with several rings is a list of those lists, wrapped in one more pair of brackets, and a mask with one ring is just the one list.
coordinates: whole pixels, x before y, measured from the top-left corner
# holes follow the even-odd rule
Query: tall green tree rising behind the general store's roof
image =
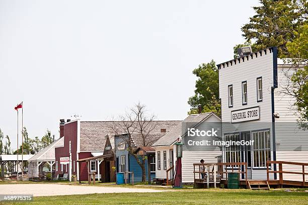
[[(293, 41), (298, 28), (307, 20), (307, 1), (260, 0), (260, 4), (259, 7), (253, 7), (256, 15), (241, 29), (246, 39), (245, 44), (252, 45), (253, 51), (276, 46), (279, 57), (287, 57), (287, 43)], [(240, 44), (235, 46), (237, 47)]]

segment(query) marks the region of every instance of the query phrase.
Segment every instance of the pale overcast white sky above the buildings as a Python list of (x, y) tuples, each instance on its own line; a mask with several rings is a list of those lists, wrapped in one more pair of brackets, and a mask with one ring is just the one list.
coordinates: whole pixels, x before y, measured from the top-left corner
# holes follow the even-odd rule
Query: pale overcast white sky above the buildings
[(111, 120), (138, 101), (157, 120), (183, 120), (193, 69), (232, 59), (258, 4), (0, 0), (0, 128), (16, 149), (21, 101), (32, 138), (48, 128), (57, 139), (61, 118)]

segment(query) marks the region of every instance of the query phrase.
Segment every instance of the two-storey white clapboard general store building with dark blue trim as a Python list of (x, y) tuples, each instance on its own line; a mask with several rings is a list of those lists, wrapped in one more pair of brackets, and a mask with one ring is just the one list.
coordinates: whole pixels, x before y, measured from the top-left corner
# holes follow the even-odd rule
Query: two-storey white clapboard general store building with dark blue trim
[[(298, 127), (294, 98), (284, 92), (293, 66), (277, 58), (277, 48), (249, 53), (217, 67), (222, 139), (254, 140), (252, 146), (223, 147), (223, 162), (247, 162), (248, 179), (266, 179), (266, 161), (308, 162), (308, 132)], [(287, 165), (283, 170), (301, 172), (302, 166)], [(270, 178), (277, 179), (279, 174)], [(286, 173), (283, 178), (302, 180), (302, 175)]]

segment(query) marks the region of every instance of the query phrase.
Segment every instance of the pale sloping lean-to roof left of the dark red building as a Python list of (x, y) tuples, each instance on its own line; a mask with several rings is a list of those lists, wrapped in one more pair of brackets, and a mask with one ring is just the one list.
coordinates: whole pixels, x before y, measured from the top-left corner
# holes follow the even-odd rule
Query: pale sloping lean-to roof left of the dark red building
[(28, 161), (54, 161), (55, 160), (55, 147), (64, 146), (64, 137), (61, 137), (50, 145), (39, 151), (36, 155), (31, 157)]

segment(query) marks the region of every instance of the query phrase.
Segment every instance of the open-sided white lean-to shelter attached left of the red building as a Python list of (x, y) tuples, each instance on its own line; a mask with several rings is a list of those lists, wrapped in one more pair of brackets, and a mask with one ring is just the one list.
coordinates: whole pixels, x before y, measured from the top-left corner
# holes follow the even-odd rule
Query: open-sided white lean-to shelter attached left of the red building
[(55, 170), (57, 167), (55, 167), (55, 147), (63, 146), (64, 144), (64, 138), (61, 137), (54, 142), (52, 142), (50, 145), (39, 151), (36, 155), (31, 157), (28, 162), (28, 176), (29, 178), (32, 177), (38, 177), (39, 174), (41, 174), (43, 170), (44, 164), (49, 165), (49, 170), (52, 171)]

